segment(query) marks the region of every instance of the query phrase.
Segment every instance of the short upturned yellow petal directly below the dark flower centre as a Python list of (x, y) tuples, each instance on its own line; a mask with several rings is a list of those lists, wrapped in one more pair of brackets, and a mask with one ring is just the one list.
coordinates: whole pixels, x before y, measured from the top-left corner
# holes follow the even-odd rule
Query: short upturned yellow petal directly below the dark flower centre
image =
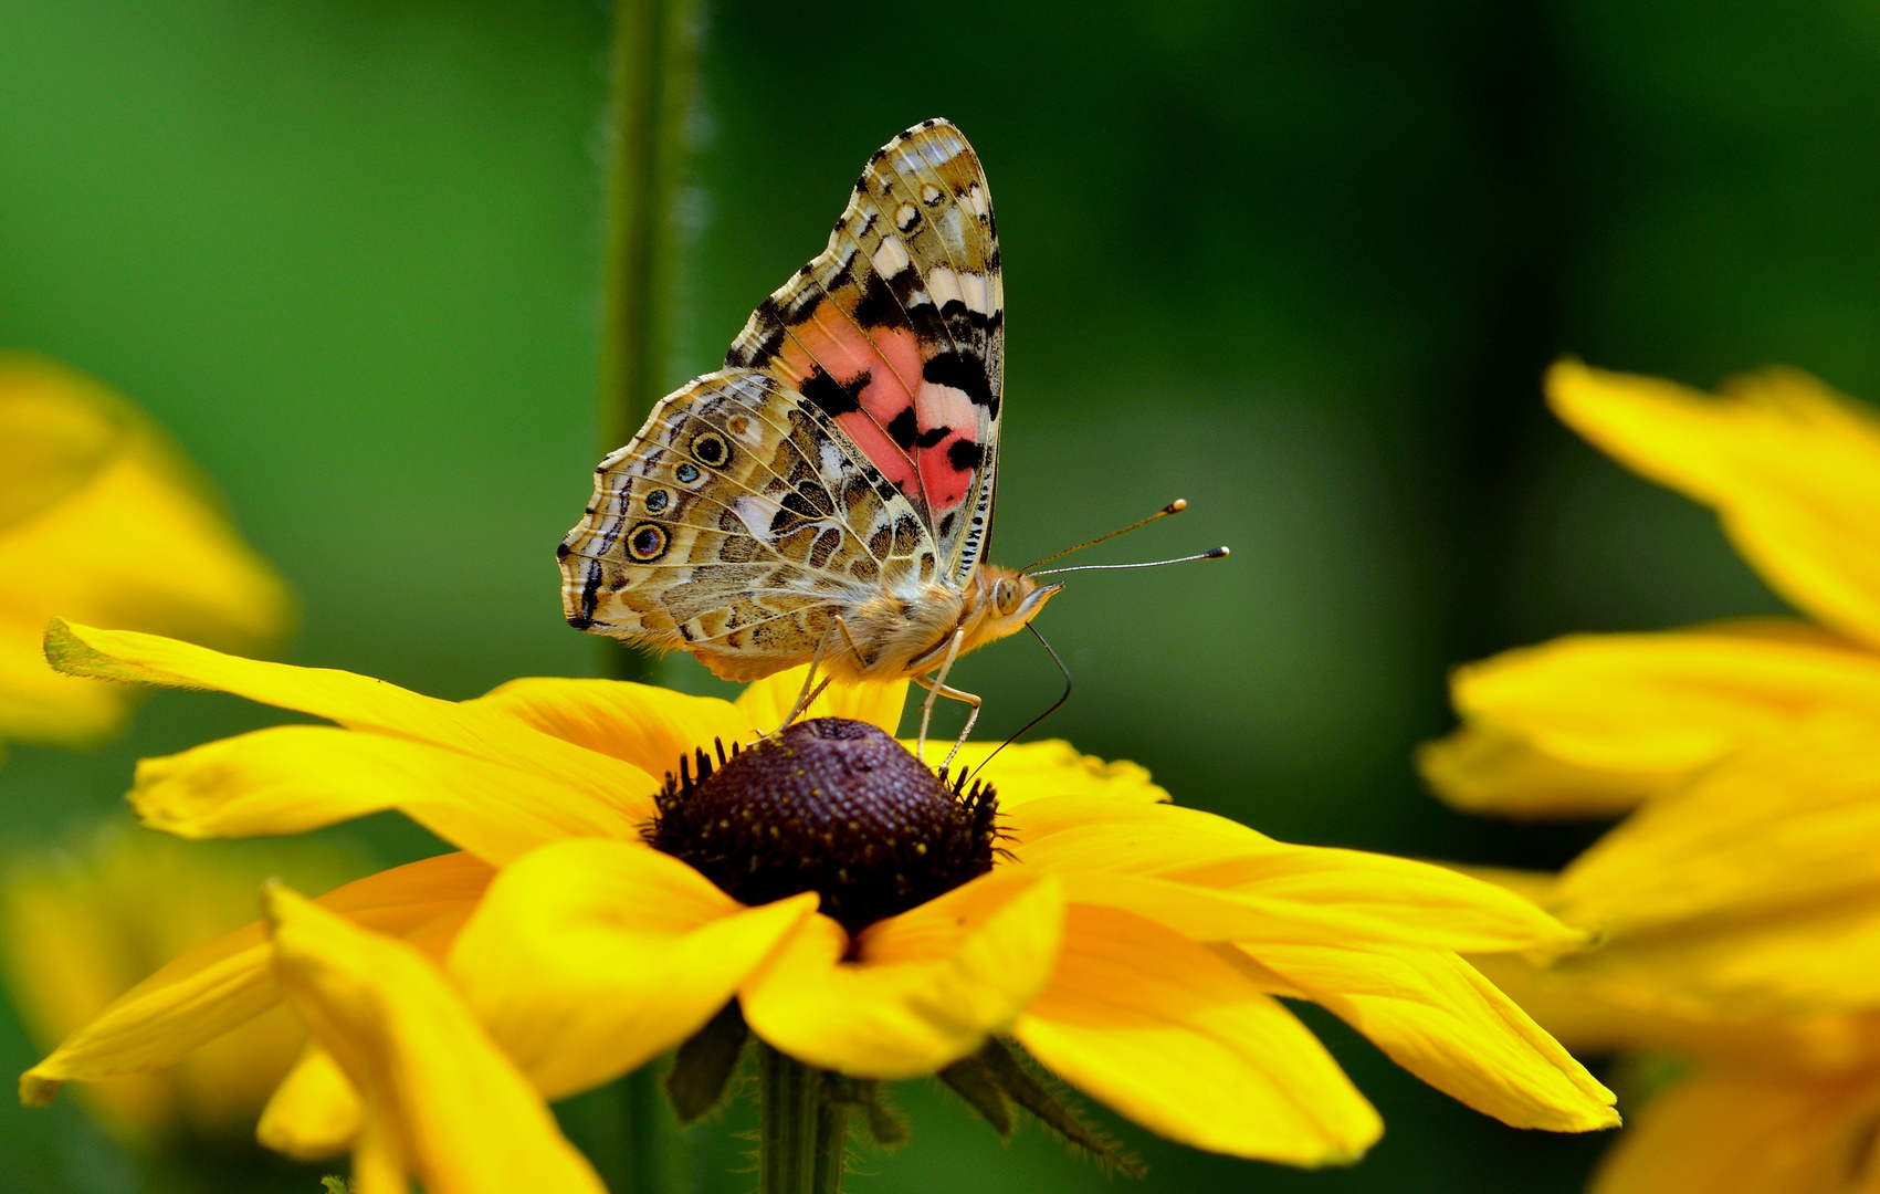
[(848, 935), (814, 916), (741, 991), (752, 1030), (782, 1053), (857, 1077), (934, 1074), (1011, 1025), (1057, 959), (1064, 897), (1051, 880), (983, 876)]

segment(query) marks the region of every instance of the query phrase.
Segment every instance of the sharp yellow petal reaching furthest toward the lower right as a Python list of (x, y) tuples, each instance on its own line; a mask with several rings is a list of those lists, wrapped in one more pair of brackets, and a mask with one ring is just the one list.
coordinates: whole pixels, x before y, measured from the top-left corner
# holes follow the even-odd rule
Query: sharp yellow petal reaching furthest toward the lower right
[(1474, 966), (1444, 950), (1245, 946), (1444, 1094), (1515, 1128), (1619, 1124), (1613, 1092)]

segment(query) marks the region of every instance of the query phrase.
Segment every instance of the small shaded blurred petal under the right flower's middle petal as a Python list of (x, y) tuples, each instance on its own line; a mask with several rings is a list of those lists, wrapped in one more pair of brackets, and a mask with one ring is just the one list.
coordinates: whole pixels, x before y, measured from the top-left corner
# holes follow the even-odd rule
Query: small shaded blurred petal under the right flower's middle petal
[(1453, 809), (1512, 820), (1613, 818), (1671, 782), (1664, 771), (1583, 767), (1470, 726), (1423, 743), (1416, 769)]

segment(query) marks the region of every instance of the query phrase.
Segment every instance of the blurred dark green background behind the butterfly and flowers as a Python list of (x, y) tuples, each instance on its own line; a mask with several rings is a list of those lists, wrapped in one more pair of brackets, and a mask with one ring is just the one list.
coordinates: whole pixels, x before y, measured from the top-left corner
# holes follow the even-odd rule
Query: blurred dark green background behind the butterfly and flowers
[[(291, 660), (449, 698), (600, 666), (553, 547), (598, 455), (605, 53), (581, 0), (0, 6), (0, 344), (169, 425), (299, 589)], [(1880, 395), (1872, 4), (714, 2), (671, 380), (931, 115), (972, 137), (1000, 216), (995, 557), (1171, 496), (1192, 513), (1104, 558), (1235, 553), (1075, 577), (1042, 619), (1077, 675), (1051, 733), (1277, 837), (1555, 865), (1587, 831), (1421, 793), (1444, 669), (1778, 607), (1707, 513), (1549, 419), (1549, 359), (1705, 385), (1788, 361)], [(1057, 694), (1025, 639), (959, 677), (989, 733)], [(269, 720), (165, 694), (113, 748), (19, 748), (0, 841), (58, 841), (137, 756)], [(387, 818), (335, 837), (431, 848)], [(1139, 1188), (1574, 1190), (1607, 1145), (1506, 1130), (1312, 1023), (1389, 1124), (1365, 1164), (1122, 1128)], [(0, 1070), (32, 1057), (0, 1017)], [(1004, 1147), (925, 1087), (902, 1100), (914, 1145), (852, 1190), (1109, 1188), (1036, 1132)], [(607, 1092), (568, 1111), (603, 1164), (609, 1113)], [(697, 1134), (701, 1190), (754, 1185), (726, 1173), (737, 1128)], [(0, 1108), (0, 1190), (164, 1181), (70, 1100)]]

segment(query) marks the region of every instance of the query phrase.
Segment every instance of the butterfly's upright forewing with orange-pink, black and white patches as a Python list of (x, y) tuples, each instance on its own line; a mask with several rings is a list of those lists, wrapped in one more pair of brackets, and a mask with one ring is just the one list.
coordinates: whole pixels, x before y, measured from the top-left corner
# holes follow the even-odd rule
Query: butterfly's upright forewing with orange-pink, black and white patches
[(993, 525), (1004, 344), (985, 171), (953, 124), (925, 120), (869, 158), (829, 246), (758, 306), (726, 367), (829, 416), (964, 587)]

